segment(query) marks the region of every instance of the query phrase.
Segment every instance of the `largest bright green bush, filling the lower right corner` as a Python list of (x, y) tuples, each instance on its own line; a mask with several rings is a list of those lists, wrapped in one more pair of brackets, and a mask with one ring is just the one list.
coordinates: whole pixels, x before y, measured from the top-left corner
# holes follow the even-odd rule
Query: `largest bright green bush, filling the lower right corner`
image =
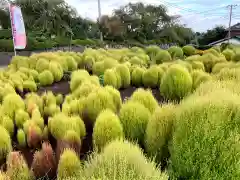
[(231, 91), (193, 95), (174, 125), (171, 179), (239, 179), (239, 96)]

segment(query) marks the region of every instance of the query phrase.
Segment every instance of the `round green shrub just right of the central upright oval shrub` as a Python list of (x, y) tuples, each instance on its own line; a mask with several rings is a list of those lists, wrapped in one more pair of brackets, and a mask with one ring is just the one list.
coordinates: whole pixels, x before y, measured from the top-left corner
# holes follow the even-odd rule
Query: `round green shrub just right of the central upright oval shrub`
[(127, 139), (143, 143), (145, 129), (150, 111), (138, 102), (127, 102), (122, 105), (119, 118)]

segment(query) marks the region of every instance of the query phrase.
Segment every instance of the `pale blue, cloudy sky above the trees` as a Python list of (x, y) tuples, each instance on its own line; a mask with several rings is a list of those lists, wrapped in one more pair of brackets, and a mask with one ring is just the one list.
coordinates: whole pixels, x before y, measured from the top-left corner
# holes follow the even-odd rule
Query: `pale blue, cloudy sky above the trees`
[[(96, 20), (98, 17), (98, 0), (66, 0), (76, 8), (79, 15)], [(180, 22), (194, 31), (204, 32), (217, 25), (229, 25), (228, 5), (233, 7), (232, 25), (240, 22), (240, 0), (101, 0), (102, 15), (111, 15), (114, 9), (129, 2), (167, 7), (169, 14), (180, 15)]]

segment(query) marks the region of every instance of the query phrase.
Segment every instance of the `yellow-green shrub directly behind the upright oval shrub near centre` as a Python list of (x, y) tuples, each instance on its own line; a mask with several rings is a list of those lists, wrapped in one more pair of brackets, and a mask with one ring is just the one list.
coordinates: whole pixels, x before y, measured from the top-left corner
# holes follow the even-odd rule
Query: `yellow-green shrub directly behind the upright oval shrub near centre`
[(89, 94), (85, 106), (86, 113), (92, 124), (94, 124), (98, 114), (104, 109), (116, 112), (116, 105), (113, 102), (112, 95), (103, 88)]

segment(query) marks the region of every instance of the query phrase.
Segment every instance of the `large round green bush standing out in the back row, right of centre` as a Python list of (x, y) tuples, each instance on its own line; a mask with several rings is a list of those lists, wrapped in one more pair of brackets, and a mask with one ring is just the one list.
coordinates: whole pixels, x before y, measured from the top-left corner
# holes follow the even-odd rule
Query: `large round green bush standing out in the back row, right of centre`
[(162, 78), (161, 94), (171, 100), (179, 100), (192, 90), (192, 77), (188, 70), (181, 65), (172, 65)]

